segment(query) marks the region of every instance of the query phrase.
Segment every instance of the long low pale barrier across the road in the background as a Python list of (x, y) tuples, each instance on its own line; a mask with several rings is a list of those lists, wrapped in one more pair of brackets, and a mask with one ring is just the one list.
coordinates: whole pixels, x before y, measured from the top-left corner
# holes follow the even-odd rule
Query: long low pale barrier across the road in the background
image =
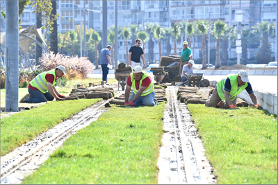
[[(194, 73), (204, 73), (204, 75), (228, 75), (237, 74), (242, 70), (194, 70)], [(277, 69), (273, 70), (247, 70), (250, 76), (277, 76)]]

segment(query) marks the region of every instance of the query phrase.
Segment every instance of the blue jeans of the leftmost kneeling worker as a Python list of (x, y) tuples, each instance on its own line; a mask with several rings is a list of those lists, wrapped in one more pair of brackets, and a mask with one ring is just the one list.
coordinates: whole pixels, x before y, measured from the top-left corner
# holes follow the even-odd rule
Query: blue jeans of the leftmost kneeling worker
[(31, 94), (32, 97), (28, 97), (26, 99), (27, 103), (41, 103), (41, 102), (47, 102), (54, 100), (54, 97), (49, 93), (42, 93), (41, 91), (33, 90), (28, 88), (29, 94)]

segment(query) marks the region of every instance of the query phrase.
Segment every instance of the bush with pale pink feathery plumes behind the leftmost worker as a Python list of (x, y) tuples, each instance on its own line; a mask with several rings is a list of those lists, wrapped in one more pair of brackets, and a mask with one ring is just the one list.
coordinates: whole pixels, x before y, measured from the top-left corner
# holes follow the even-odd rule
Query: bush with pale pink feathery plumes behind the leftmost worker
[(66, 55), (57, 53), (54, 55), (53, 52), (48, 55), (47, 53), (42, 54), (40, 58), (40, 66), (45, 70), (49, 71), (55, 69), (59, 65), (63, 65), (66, 69), (68, 80), (72, 78), (86, 78), (88, 73), (92, 72), (92, 67), (94, 66), (90, 60), (87, 58), (75, 57), (71, 58)]

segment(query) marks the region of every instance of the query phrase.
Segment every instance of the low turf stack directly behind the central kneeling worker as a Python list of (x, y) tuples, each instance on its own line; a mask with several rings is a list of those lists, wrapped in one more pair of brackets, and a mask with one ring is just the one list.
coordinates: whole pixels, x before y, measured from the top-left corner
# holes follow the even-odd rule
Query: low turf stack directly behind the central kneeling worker
[[(166, 96), (166, 90), (165, 89), (154, 89), (154, 92), (156, 93), (156, 100), (158, 102), (163, 102), (163, 101), (167, 101)], [(119, 97), (115, 97), (112, 100), (109, 101), (109, 103), (106, 103), (105, 107), (111, 107), (111, 104), (115, 104), (115, 105), (124, 105), (125, 101), (124, 101), (124, 94), (122, 94)]]

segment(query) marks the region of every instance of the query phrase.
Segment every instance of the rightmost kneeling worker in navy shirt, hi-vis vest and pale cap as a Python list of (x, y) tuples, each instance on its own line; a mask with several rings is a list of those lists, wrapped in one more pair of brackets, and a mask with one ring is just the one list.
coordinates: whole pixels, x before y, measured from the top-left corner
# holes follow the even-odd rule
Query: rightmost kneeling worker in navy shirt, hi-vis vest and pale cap
[(240, 71), (235, 75), (228, 75), (226, 78), (218, 82), (217, 87), (213, 90), (212, 96), (206, 100), (206, 107), (219, 107), (224, 109), (235, 109), (236, 96), (246, 89), (254, 107), (259, 108), (256, 95), (248, 79), (247, 71)]

